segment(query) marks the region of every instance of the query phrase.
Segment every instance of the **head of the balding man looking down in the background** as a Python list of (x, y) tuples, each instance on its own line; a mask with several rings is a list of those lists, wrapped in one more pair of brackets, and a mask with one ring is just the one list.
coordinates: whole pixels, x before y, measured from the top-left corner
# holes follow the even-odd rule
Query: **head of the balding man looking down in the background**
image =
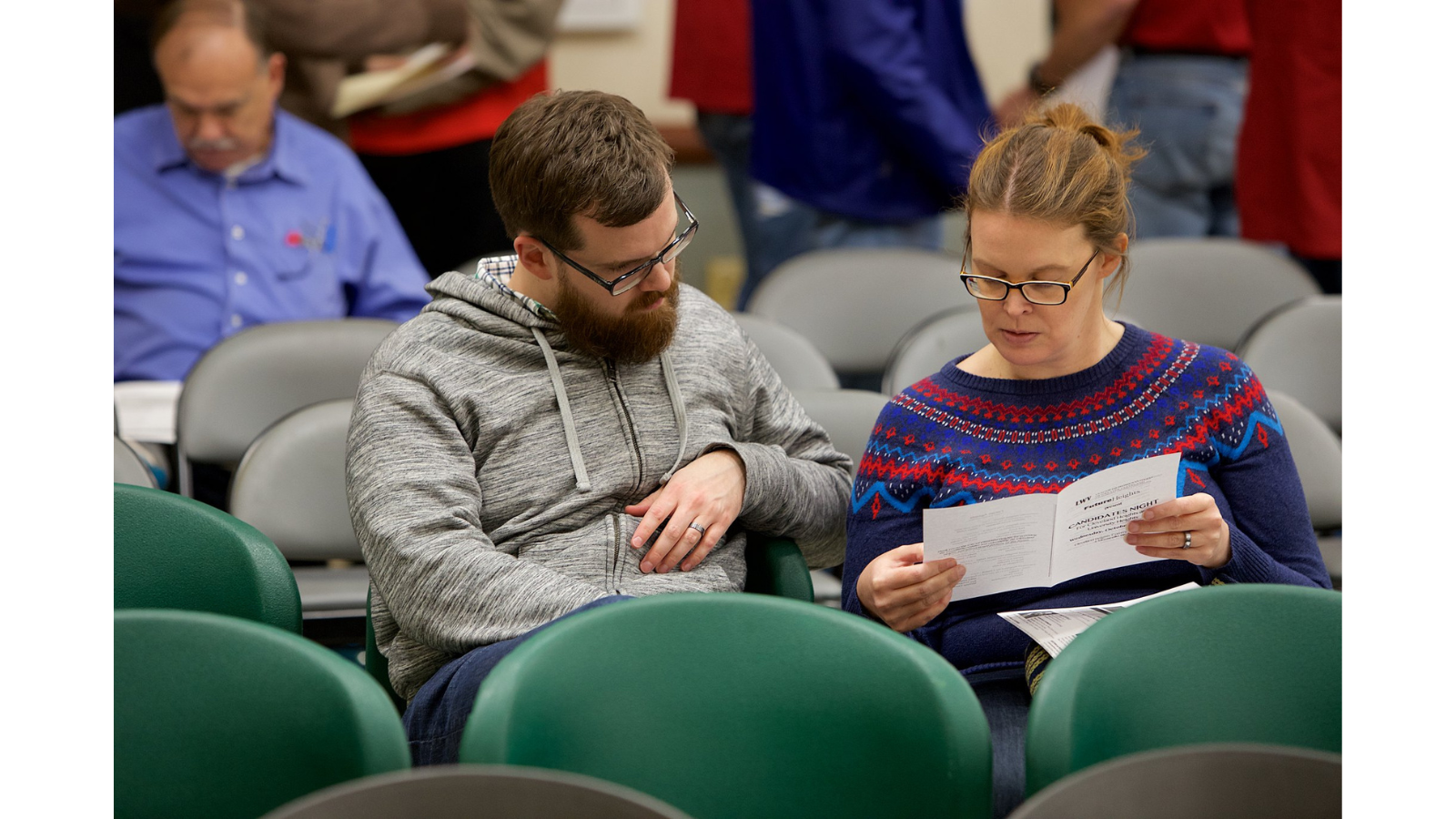
[(178, 140), (199, 168), (223, 172), (271, 144), (284, 58), (262, 31), (239, 0), (179, 0), (157, 17), (151, 57)]

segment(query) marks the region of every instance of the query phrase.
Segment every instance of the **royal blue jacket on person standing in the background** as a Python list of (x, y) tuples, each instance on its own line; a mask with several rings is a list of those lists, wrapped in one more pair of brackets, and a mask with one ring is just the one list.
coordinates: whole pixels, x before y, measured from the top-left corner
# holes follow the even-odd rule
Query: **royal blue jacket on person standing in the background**
[(754, 0), (753, 175), (821, 210), (954, 207), (990, 131), (961, 0)]

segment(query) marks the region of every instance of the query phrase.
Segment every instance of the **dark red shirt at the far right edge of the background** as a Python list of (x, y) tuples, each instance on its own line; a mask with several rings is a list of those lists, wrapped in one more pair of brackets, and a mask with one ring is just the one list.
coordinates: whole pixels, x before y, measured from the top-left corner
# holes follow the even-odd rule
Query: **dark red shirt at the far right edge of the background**
[(1249, 0), (1254, 51), (1235, 195), (1245, 239), (1341, 256), (1340, 4)]

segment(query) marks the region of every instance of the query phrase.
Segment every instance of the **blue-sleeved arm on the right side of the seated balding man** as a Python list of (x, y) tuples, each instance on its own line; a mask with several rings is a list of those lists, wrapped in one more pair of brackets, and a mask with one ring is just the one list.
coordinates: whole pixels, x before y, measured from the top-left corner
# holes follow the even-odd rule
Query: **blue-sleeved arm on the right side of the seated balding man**
[[(351, 157), (352, 159), (352, 157)], [(344, 271), (344, 286), (349, 291), (349, 315), (406, 322), (430, 302), (425, 273), (415, 249), (409, 246), (399, 219), (384, 195), (357, 165), (358, 179), (345, 187), (352, 201), (345, 204), (345, 223), (339, 226), (339, 242), (357, 242), (357, 248), (339, 248), (344, 259), (355, 270)]]

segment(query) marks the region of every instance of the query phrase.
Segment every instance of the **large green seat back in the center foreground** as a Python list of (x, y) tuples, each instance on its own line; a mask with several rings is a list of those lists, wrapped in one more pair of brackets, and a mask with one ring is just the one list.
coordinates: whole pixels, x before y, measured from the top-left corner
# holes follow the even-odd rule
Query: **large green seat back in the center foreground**
[(761, 595), (661, 595), (552, 625), (486, 678), (460, 759), (598, 777), (697, 819), (990, 813), (990, 733), (954, 666)]

